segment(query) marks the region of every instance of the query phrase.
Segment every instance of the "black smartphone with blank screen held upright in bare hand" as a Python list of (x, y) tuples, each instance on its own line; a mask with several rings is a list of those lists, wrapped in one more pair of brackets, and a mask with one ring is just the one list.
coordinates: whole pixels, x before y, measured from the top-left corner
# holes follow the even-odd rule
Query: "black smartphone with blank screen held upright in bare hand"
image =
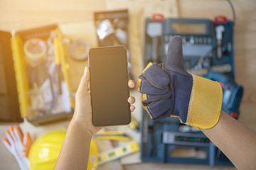
[(124, 46), (95, 47), (89, 51), (92, 124), (131, 122), (127, 50)]

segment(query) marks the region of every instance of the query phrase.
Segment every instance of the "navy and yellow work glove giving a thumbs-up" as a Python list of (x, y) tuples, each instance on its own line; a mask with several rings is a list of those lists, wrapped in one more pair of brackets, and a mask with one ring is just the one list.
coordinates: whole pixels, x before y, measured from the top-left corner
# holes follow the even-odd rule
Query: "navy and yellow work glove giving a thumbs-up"
[(218, 123), (223, 98), (220, 84), (186, 72), (179, 36), (170, 40), (165, 64), (147, 65), (137, 89), (154, 120), (178, 117), (181, 123), (202, 129)]

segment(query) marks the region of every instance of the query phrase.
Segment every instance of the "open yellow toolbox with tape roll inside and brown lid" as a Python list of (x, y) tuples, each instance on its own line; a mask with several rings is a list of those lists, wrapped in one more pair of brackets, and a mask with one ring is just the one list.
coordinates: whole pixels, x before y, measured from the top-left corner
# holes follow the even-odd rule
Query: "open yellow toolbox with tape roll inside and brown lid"
[(68, 64), (57, 25), (13, 34), (0, 31), (0, 66), (0, 123), (26, 118), (40, 125), (73, 114)]

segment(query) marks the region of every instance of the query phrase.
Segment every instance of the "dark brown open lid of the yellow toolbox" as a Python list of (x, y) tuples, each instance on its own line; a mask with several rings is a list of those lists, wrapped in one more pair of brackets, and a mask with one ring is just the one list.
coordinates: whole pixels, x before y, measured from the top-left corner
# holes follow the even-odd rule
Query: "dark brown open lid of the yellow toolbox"
[(22, 121), (11, 52), (11, 33), (0, 30), (0, 123)]

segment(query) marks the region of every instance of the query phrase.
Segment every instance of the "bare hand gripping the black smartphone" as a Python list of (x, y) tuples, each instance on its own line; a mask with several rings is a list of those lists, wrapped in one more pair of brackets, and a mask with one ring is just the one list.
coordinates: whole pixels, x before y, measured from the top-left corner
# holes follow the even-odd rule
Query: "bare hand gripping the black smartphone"
[[(73, 115), (72, 121), (78, 123), (88, 135), (94, 135), (97, 131), (101, 130), (103, 127), (96, 127), (92, 124), (92, 105), (90, 98), (90, 91), (88, 91), (88, 84), (90, 81), (90, 69), (85, 67), (85, 73), (82, 76), (80, 84), (78, 86), (78, 91), (75, 94), (75, 113)], [(106, 82), (111, 83), (111, 82)], [(134, 88), (134, 81), (128, 81), (129, 88)], [(132, 104), (135, 102), (135, 98), (130, 96), (127, 101)], [(134, 111), (135, 107), (130, 106), (130, 110)]]

